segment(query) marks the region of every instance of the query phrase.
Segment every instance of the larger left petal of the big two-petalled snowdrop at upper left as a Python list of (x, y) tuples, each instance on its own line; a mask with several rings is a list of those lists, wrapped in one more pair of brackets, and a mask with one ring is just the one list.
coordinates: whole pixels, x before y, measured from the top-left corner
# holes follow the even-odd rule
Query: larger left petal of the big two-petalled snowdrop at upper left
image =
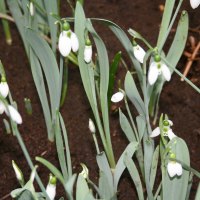
[(71, 52), (72, 42), (67, 36), (67, 31), (62, 31), (58, 40), (58, 49), (63, 57), (66, 57)]

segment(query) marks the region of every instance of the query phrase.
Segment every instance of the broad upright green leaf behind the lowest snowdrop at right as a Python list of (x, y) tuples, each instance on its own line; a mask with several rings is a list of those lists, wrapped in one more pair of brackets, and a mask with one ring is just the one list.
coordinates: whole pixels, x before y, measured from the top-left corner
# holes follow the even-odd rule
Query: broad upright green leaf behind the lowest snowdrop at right
[[(172, 153), (176, 154), (177, 160), (182, 161), (188, 166), (190, 165), (189, 150), (184, 140), (176, 137), (169, 142), (166, 148), (168, 147), (170, 147)], [(185, 199), (189, 181), (189, 172), (183, 169), (183, 174), (180, 177), (175, 176), (173, 178), (170, 178), (166, 168), (164, 167), (164, 164), (162, 166), (163, 199)]]

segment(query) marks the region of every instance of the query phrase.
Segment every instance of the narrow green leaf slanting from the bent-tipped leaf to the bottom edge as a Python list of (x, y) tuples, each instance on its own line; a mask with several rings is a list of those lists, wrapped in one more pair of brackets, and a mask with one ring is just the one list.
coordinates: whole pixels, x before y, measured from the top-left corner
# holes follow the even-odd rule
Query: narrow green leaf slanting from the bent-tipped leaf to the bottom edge
[(130, 156), (127, 154), (124, 156), (124, 162), (125, 165), (130, 173), (130, 176), (135, 184), (135, 188), (137, 191), (138, 199), (139, 200), (144, 200), (144, 195), (143, 195), (143, 189), (142, 189), (142, 182), (140, 180), (140, 175), (138, 173), (137, 167), (135, 166), (135, 163), (131, 159)]

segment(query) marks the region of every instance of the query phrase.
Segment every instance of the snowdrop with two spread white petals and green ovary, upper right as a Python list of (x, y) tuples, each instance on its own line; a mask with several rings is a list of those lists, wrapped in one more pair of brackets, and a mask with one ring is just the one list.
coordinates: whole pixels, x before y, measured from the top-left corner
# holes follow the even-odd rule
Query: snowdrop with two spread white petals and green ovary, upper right
[(170, 81), (171, 79), (171, 72), (167, 65), (161, 61), (161, 58), (159, 55), (155, 55), (154, 61), (151, 63), (149, 67), (149, 73), (148, 73), (148, 81), (150, 85), (153, 85), (156, 80), (158, 79), (159, 75), (163, 75), (164, 78), (167, 81)]

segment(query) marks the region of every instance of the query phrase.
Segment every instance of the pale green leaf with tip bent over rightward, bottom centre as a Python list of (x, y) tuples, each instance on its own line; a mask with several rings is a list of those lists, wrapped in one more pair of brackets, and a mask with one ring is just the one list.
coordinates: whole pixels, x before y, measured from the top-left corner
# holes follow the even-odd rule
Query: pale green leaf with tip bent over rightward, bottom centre
[(132, 156), (135, 153), (135, 151), (137, 150), (137, 148), (138, 148), (137, 142), (130, 142), (117, 162), (117, 165), (116, 165), (116, 168), (114, 171), (114, 187), (115, 187), (116, 191), (117, 191), (118, 183), (122, 176), (122, 173), (124, 172), (124, 170), (126, 168), (126, 165), (124, 163), (124, 158), (126, 156), (132, 158)]

